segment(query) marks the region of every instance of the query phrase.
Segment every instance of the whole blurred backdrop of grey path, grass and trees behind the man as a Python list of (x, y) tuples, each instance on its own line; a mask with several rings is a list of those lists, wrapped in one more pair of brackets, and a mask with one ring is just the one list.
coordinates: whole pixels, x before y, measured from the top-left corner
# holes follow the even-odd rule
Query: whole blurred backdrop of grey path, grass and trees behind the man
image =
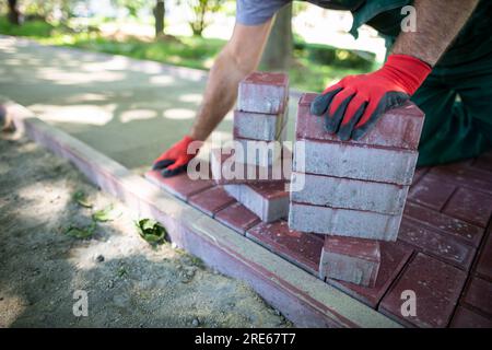
[[(234, 27), (233, 0), (0, 0), (0, 95), (144, 172), (194, 122), (207, 70)], [(277, 15), (261, 70), (300, 92), (376, 69), (384, 39), (352, 15), (295, 1)], [(232, 113), (214, 130), (231, 138)], [(206, 155), (207, 153), (200, 152)]]

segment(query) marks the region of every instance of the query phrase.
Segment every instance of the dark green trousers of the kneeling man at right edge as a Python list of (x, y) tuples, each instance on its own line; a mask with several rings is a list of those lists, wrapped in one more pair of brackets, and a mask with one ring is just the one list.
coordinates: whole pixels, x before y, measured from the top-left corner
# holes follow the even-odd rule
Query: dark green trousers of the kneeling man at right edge
[(492, 149), (492, 52), (453, 67), (437, 66), (411, 100), (425, 113), (418, 166)]

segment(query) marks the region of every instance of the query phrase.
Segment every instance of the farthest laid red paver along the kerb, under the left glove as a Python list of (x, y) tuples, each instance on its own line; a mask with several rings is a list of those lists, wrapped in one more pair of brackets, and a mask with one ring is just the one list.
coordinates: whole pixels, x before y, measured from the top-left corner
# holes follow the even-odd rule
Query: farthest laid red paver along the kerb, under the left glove
[(145, 173), (145, 178), (185, 201), (190, 196), (215, 186), (211, 179), (190, 179), (186, 173), (163, 177), (159, 171), (150, 171)]

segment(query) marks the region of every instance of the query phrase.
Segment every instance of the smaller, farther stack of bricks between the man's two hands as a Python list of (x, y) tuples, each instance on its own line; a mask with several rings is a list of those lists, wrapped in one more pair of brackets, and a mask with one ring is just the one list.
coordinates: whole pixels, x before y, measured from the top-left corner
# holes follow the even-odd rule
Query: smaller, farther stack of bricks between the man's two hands
[[(289, 78), (254, 72), (239, 83), (234, 110), (234, 141), (242, 152), (212, 150), (218, 184), (261, 221), (286, 218), (292, 154), (282, 147), (286, 135)], [(250, 175), (254, 176), (250, 176)]]

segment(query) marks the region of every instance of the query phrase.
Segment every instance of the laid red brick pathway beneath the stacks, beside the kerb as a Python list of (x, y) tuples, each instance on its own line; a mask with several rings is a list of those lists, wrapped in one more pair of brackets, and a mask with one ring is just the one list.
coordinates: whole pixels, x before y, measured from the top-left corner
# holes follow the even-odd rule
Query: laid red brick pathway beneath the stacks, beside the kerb
[[(323, 236), (261, 223), (211, 180), (187, 175), (147, 177), (208, 215), (317, 276)], [(201, 194), (202, 196), (199, 196)], [(412, 327), (492, 326), (492, 153), (420, 168), (395, 243), (382, 242), (374, 288), (328, 280), (395, 320)], [(401, 293), (417, 294), (417, 316), (400, 313)]]

